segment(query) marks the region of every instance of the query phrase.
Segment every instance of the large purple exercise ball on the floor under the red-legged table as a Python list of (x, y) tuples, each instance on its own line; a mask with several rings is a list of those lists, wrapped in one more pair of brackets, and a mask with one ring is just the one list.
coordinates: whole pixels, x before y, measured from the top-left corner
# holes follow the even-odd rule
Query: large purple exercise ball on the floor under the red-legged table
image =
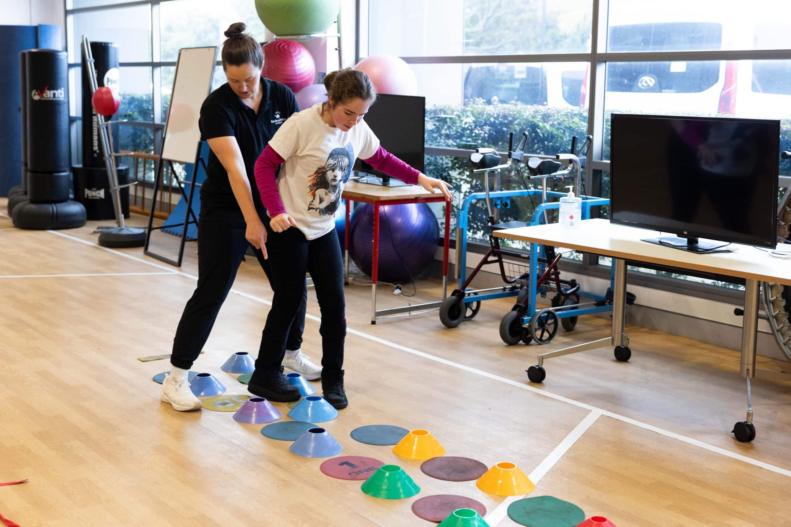
[[(395, 283), (417, 277), (433, 261), (439, 240), (439, 222), (426, 203), (380, 206), (378, 280)], [(349, 245), (354, 263), (371, 276), (373, 205), (354, 209)]]

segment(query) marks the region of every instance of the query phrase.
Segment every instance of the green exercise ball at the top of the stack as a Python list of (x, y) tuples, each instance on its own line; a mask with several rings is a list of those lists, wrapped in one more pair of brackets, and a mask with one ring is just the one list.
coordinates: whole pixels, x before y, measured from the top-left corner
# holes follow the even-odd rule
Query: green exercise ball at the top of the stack
[(275, 35), (323, 33), (338, 18), (341, 0), (255, 0), (255, 10)]

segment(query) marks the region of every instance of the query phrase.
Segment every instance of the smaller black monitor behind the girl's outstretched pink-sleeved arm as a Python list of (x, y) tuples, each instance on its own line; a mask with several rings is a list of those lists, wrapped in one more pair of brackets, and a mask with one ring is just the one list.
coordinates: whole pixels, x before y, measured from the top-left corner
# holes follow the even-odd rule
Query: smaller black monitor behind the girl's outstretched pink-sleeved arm
[[(365, 114), (365, 122), (379, 137), (382, 148), (411, 167), (423, 171), (423, 156), (426, 153), (426, 97), (380, 93), (377, 102)], [(378, 176), (365, 179), (367, 183), (401, 183), (375, 170), (359, 158), (354, 163), (354, 170)]]

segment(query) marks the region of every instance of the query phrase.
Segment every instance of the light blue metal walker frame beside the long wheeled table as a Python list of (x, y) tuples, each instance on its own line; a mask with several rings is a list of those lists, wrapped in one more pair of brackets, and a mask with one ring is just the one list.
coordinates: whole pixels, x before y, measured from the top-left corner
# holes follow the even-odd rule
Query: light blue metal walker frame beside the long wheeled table
[[(517, 198), (520, 196), (532, 196), (538, 194), (539, 197), (542, 195), (542, 190), (539, 189), (531, 189), (531, 190), (498, 190), (495, 192), (489, 193), (489, 198), (492, 202), (492, 206), (494, 209), (509, 209), (511, 198)], [(547, 191), (547, 197), (555, 197), (555, 198), (562, 198), (566, 196), (566, 193), (563, 192), (555, 192), (555, 191)], [(600, 205), (609, 205), (610, 200), (608, 198), (597, 198), (592, 196), (581, 196), (582, 198), (582, 219), (587, 220), (590, 217), (590, 209), (591, 207), (596, 207)], [(509, 296), (517, 296), (519, 295), (519, 290), (517, 286), (514, 285), (504, 285), (501, 288), (490, 288), (484, 289), (483, 292), (476, 292), (475, 289), (467, 289), (463, 290), (462, 287), (464, 286), (464, 282), (467, 280), (467, 227), (468, 227), (468, 217), (469, 217), (469, 209), (470, 205), (473, 201), (477, 201), (479, 199), (486, 199), (486, 192), (475, 192), (467, 196), (464, 199), (464, 204), (462, 205), (461, 209), (459, 209), (459, 214), (456, 222), (456, 250), (460, 250), (461, 254), (459, 258), (456, 258), (456, 269), (458, 270), (459, 274), (459, 285), (458, 290), (464, 292), (464, 303), (470, 304), (475, 302), (482, 302), (484, 300), (493, 300), (499, 298), (507, 298)], [(542, 198), (543, 199), (543, 198)], [(539, 206), (536, 207), (536, 210), (533, 212), (532, 219), (530, 221), (530, 225), (539, 225), (543, 224), (543, 213), (544, 211), (551, 210), (551, 209), (559, 209), (560, 202), (559, 201), (543, 201)], [(538, 252), (536, 252), (538, 251)], [(538, 254), (539, 258), (546, 258), (545, 251), (543, 249), (543, 245), (538, 243), (531, 243), (530, 244), (530, 254)], [(538, 295), (540, 294), (542, 298), (546, 298), (547, 291), (540, 291), (538, 290), (538, 277), (543, 274), (543, 271), (547, 268), (547, 264), (543, 262), (539, 262), (538, 258), (530, 258), (529, 259), (529, 273), (528, 273), (528, 311), (526, 312), (525, 316), (521, 318), (522, 326), (528, 326), (533, 315), (536, 314), (536, 303), (538, 299)], [(611, 266), (610, 271), (610, 288), (613, 288), (615, 279), (615, 263)], [(496, 290), (500, 291), (496, 291)], [(489, 292), (494, 291), (494, 292)], [(593, 299), (594, 303), (606, 302), (607, 298), (604, 295), (598, 295), (593, 292), (589, 291), (582, 291), (580, 290), (577, 292), (578, 295), (581, 297)], [(546, 308), (547, 310), (551, 308)], [(554, 310), (553, 310), (554, 311)], [(606, 303), (602, 306), (592, 306), (592, 307), (566, 307), (566, 309), (555, 311), (555, 314), (559, 318), (569, 318), (569, 317), (577, 317), (584, 314), (594, 314), (594, 313), (604, 313), (607, 311), (612, 311), (612, 304)]]

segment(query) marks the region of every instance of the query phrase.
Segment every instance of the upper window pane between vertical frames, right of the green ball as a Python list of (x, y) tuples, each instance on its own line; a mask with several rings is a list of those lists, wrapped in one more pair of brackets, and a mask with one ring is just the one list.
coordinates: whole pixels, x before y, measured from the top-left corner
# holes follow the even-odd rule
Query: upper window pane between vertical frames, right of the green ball
[(370, 55), (590, 51), (592, 0), (370, 0)]

